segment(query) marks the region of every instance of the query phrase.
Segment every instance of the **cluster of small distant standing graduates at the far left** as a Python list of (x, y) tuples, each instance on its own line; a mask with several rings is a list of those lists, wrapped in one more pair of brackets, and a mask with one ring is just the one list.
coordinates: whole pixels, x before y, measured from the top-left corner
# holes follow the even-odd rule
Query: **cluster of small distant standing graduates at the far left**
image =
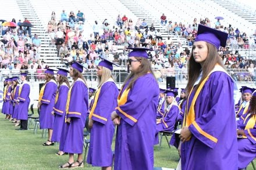
[(30, 85), (26, 81), (27, 74), (20, 74), (19, 77), (5, 78), (3, 81), (3, 105), (2, 113), (5, 119), (19, 126), (16, 130), (27, 130), (27, 119), (30, 104)]

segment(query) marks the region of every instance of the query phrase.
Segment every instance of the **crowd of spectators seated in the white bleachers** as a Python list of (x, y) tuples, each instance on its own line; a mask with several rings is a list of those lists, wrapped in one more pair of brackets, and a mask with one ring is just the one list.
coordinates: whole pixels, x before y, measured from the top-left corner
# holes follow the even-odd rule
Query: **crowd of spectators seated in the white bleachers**
[[(178, 24), (177, 21), (173, 24), (163, 13), (160, 16), (161, 27), (156, 28), (154, 23), (149, 25), (145, 19), (137, 19), (134, 23), (129, 16), (118, 15), (115, 26), (111, 27), (110, 23), (113, 22), (109, 22), (108, 19), (102, 22), (95, 20), (93, 32), (87, 32), (84, 31), (86, 19), (80, 10), (76, 15), (73, 11), (67, 15), (63, 10), (59, 18), (60, 20), (56, 21), (55, 12), (51, 13), (47, 32), (51, 37), (51, 44), (56, 45), (58, 56), (66, 67), (76, 61), (88, 69), (96, 68), (102, 53), (114, 63), (125, 66), (128, 52), (126, 48), (144, 47), (152, 49), (149, 56), (152, 68), (158, 70), (156, 74), (159, 81), (162, 81), (166, 75), (177, 74), (175, 70), (179, 69), (182, 70), (180, 71), (182, 79), (187, 79), (187, 61), (190, 57), (191, 46), (197, 36), (197, 26), (204, 24), (229, 34), (227, 40), (229, 47), (219, 50), (219, 54), (227, 68), (236, 69), (233, 78), (237, 81), (250, 81), (255, 78), (254, 61), (239, 55), (239, 48), (255, 48), (254, 37), (248, 38), (246, 32), (239, 31), (239, 28), (234, 29), (231, 25), (222, 26), (220, 20), (211, 23), (208, 18), (200, 19), (200, 21), (195, 18), (189, 26), (185, 26), (181, 22)], [(166, 39), (162, 35), (165, 31), (168, 33)], [(173, 36), (183, 38), (185, 41), (173, 42)], [(1, 40), (1, 68), (44, 69), (45, 67), (40, 64), (40, 45), (38, 36), (36, 34), (31, 36), (27, 28), (9, 27), (3, 32)], [(233, 53), (234, 49), (238, 49), (236, 53)], [(41, 68), (35, 66), (31, 68), (33, 62)], [(237, 75), (236, 72), (239, 69), (247, 69), (248, 75)], [(84, 71), (86, 72), (86, 69)]]

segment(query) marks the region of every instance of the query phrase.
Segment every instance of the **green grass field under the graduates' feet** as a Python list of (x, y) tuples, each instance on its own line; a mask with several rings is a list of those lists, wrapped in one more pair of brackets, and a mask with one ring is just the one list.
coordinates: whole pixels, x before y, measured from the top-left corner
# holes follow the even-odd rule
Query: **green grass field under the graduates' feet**
[[(58, 145), (42, 146), (47, 139), (42, 138), (41, 134), (34, 135), (32, 130), (15, 131), (16, 128), (9, 120), (5, 120), (5, 115), (0, 114), (0, 169), (58, 169), (59, 165), (68, 160), (68, 155), (55, 155), (59, 149)], [(165, 138), (161, 150), (155, 146), (154, 151), (155, 167), (177, 167), (177, 150), (175, 147), (169, 149)], [(254, 162), (256, 164), (256, 161)], [(84, 167), (100, 169), (87, 164)], [(251, 165), (247, 169), (253, 170)]]

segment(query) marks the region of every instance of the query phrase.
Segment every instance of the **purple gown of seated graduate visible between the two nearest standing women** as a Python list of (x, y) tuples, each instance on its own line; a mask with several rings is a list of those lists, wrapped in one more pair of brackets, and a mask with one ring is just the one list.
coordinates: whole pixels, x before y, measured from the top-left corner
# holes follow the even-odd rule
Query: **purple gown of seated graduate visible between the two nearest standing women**
[(176, 119), (180, 113), (180, 109), (175, 104), (172, 104), (172, 106), (168, 105), (168, 107), (170, 107), (169, 111), (166, 108), (165, 115), (163, 115), (161, 122), (157, 124), (154, 144), (159, 143), (158, 132), (161, 132), (161, 131), (172, 132), (175, 128)]

